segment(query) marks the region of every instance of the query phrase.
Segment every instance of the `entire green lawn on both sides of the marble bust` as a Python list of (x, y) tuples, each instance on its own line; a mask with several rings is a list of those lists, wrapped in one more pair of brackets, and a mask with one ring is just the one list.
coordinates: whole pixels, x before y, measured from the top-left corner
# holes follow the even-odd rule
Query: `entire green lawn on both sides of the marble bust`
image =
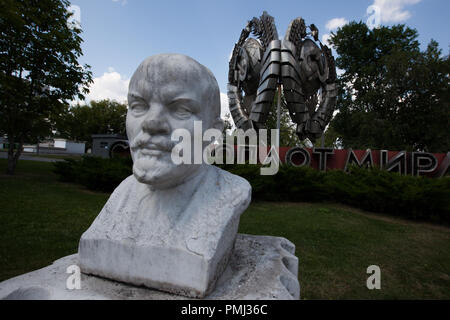
[[(75, 253), (108, 194), (57, 181), (52, 164), (0, 159), (0, 281)], [(241, 233), (296, 245), (303, 299), (450, 299), (450, 229), (337, 204), (252, 203)], [(381, 290), (366, 269), (381, 268)]]

